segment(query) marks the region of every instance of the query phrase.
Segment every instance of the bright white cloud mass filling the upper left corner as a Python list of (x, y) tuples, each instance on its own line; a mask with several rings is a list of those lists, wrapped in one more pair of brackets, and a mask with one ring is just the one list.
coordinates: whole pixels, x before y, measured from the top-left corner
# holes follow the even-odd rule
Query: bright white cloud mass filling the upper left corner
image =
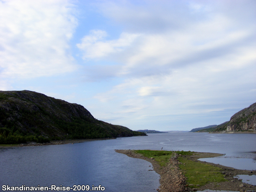
[(69, 40), (77, 26), (68, 0), (0, 1), (0, 75), (52, 76), (76, 69)]

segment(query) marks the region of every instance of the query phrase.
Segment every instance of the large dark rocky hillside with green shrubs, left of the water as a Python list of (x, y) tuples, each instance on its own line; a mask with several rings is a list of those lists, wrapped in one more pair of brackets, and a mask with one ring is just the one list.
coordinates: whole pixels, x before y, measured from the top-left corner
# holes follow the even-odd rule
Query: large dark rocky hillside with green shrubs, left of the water
[(96, 120), (86, 108), (32, 91), (0, 91), (0, 144), (146, 135)]

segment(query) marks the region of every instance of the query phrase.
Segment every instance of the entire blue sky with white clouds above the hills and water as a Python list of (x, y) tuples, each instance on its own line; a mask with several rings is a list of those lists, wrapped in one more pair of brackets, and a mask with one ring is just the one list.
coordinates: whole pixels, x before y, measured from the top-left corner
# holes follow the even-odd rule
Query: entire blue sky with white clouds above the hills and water
[(256, 1), (0, 0), (0, 90), (132, 130), (221, 124), (256, 102)]

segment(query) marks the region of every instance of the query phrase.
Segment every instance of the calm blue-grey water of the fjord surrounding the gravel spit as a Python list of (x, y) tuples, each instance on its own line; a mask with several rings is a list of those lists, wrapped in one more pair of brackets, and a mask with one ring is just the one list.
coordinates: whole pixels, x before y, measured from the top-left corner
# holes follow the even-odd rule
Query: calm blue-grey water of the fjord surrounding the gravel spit
[[(115, 149), (190, 150), (226, 154), (210, 158), (256, 170), (256, 134), (165, 133), (77, 144), (0, 149), (0, 190), (9, 186), (102, 185), (106, 192), (156, 192), (159, 175), (147, 161)], [(209, 159), (209, 158), (208, 158)], [(245, 168), (247, 169), (247, 168)], [(50, 190), (49, 190), (50, 191)]]

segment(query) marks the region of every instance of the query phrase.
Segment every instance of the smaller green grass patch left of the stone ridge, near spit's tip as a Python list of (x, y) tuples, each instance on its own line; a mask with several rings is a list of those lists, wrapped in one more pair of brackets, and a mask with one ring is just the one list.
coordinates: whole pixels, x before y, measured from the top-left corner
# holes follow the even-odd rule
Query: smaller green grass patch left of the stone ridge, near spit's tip
[(134, 152), (140, 153), (148, 158), (154, 158), (160, 166), (165, 166), (173, 156), (173, 151), (134, 150)]

